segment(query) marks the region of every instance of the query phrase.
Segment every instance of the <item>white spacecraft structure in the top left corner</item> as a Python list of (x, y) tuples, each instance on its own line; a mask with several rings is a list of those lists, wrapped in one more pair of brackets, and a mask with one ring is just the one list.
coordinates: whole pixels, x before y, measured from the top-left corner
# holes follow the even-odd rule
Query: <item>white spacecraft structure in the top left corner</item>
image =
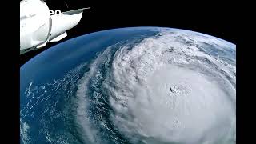
[(43, 0), (23, 0), (20, 2), (20, 54), (42, 48), (47, 42), (58, 42), (67, 36), (82, 18), (82, 8), (61, 12), (52, 10)]

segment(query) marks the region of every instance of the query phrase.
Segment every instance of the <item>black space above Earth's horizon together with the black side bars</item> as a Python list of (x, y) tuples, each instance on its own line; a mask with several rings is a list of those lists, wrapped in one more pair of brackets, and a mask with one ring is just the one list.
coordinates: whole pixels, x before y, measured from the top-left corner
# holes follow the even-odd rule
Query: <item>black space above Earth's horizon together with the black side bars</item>
[[(19, 3), (5, 1), (2, 7), (2, 93), (1, 120), (2, 143), (19, 143), (19, 70), (20, 66), (43, 50), (57, 43), (48, 43), (46, 47), (19, 55)], [(66, 2), (66, 4), (65, 4)], [(254, 86), (251, 75), (255, 64), (254, 46), (245, 42), (246, 34), (251, 32), (244, 21), (247, 17), (242, 8), (232, 2), (216, 1), (99, 1), (99, 0), (46, 0), (52, 10), (74, 10), (90, 6), (84, 10), (82, 22), (67, 31), (68, 36), (61, 42), (82, 34), (98, 30), (108, 30), (130, 26), (165, 26), (185, 30), (194, 30), (225, 39), (237, 45), (237, 142), (254, 143)], [(66, 6), (67, 5), (67, 6)], [(250, 17), (253, 18), (253, 17)], [(238, 25), (243, 23), (244, 26)], [(247, 28), (247, 29), (246, 29)], [(249, 29), (249, 30), (248, 30)], [(242, 36), (241, 36), (242, 35)], [(238, 39), (239, 38), (239, 39)], [(245, 46), (249, 45), (249, 46)], [(253, 64), (251, 64), (251, 62)], [(252, 81), (252, 82), (250, 82)], [(247, 108), (247, 110), (246, 110)]]

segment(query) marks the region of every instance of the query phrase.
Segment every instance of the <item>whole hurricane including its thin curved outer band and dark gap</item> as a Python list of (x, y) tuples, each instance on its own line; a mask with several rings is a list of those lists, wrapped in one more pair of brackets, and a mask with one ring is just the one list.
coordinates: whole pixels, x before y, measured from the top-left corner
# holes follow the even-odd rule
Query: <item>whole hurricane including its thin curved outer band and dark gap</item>
[(91, 143), (235, 143), (235, 79), (235, 46), (218, 38), (162, 30), (120, 42), (78, 82), (78, 131)]

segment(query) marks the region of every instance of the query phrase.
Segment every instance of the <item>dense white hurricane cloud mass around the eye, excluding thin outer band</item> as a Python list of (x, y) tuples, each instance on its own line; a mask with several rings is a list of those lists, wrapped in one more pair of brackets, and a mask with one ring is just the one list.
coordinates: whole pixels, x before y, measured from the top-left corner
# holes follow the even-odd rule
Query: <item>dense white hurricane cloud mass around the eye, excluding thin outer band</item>
[[(115, 110), (112, 121), (134, 142), (218, 142), (234, 133), (230, 97), (235, 99), (235, 88), (218, 70), (232, 71), (232, 66), (196, 46), (188, 48), (177, 36), (188, 39), (163, 33), (115, 54), (105, 83)], [(194, 43), (210, 42), (196, 35), (190, 38)]]

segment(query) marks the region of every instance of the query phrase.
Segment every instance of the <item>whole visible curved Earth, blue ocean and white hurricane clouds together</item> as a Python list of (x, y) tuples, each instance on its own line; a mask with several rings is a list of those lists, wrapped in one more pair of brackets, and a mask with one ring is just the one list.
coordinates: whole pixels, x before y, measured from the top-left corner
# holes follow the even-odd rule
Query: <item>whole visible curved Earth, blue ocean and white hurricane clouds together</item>
[(105, 30), (20, 70), (21, 143), (236, 142), (236, 46), (222, 39)]

